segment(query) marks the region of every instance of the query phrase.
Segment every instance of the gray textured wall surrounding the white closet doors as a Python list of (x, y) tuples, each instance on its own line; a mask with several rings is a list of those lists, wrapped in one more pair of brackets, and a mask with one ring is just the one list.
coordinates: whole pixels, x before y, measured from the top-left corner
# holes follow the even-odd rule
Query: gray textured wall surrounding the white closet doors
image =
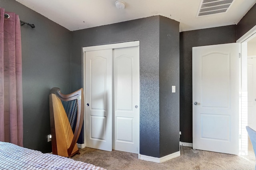
[(162, 16), (153, 16), (73, 31), (71, 53), (72, 89), (77, 89), (82, 87), (82, 47), (140, 40), (140, 154), (158, 158), (160, 18)]

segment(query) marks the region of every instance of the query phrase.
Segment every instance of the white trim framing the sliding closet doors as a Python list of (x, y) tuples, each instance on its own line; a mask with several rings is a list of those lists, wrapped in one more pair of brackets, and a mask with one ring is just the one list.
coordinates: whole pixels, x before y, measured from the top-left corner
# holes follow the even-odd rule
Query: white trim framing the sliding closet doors
[[(124, 48), (124, 47), (136, 47), (140, 45), (140, 41), (129, 41), (129, 42), (124, 42), (124, 43), (114, 43), (114, 44), (106, 44), (106, 45), (96, 45), (96, 46), (90, 46), (90, 47), (83, 47), (83, 55), (82, 55), (82, 68), (84, 68), (85, 66), (85, 53), (88, 51), (96, 51), (96, 50), (104, 50), (104, 49), (117, 49), (117, 48)], [(82, 71), (82, 77), (83, 77), (83, 88), (85, 89), (85, 74), (84, 74), (84, 70)], [(84, 100), (85, 102), (85, 100)], [(85, 103), (84, 103), (85, 104)], [(140, 106), (140, 105), (139, 105)], [(86, 122), (85, 120), (85, 110), (84, 110), (84, 122)], [(85, 143), (85, 125), (84, 125), (84, 143), (80, 144), (78, 147), (79, 148), (85, 148), (86, 147), (86, 143)], [(140, 141), (140, 140), (139, 140)], [(140, 144), (138, 144), (138, 150), (140, 150)]]

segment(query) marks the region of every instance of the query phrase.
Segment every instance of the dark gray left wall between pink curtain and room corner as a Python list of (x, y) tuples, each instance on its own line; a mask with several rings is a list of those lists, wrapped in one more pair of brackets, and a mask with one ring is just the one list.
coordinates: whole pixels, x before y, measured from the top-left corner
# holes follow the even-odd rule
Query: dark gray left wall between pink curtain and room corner
[(68, 29), (15, 0), (0, 0), (5, 11), (34, 23), (21, 27), (24, 147), (51, 152), (48, 95), (52, 87), (70, 93), (70, 39)]

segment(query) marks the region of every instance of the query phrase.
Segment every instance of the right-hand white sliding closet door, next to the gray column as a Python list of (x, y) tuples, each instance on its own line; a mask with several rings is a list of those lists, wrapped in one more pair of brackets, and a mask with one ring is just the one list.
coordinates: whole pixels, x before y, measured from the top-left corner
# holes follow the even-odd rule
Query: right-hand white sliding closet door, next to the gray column
[(139, 74), (139, 47), (114, 49), (114, 150), (139, 153)]

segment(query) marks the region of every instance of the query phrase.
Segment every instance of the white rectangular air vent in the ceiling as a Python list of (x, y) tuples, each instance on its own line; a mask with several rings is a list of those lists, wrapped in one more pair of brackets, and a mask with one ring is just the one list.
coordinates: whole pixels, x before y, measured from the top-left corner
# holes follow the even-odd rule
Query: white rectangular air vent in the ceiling
[(234, 0), (201, 0), (197, 17), (227, 12)]

